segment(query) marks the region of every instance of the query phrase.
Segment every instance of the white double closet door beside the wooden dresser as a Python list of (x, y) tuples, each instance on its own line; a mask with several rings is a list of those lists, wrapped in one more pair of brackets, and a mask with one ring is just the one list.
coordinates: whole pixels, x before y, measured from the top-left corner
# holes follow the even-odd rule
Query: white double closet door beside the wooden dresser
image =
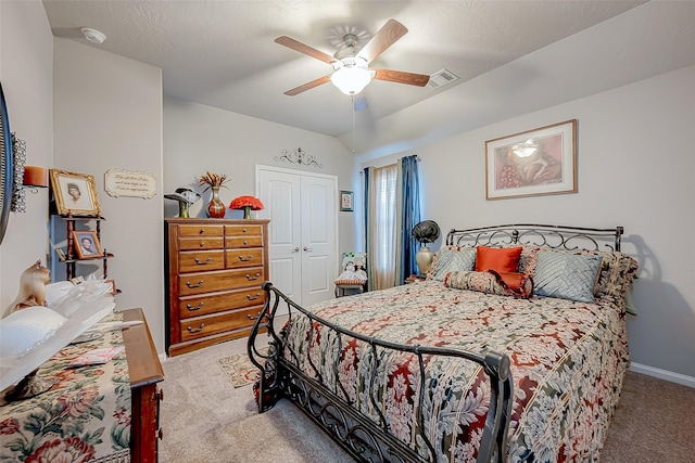
[(338, 178), (256, 166), (256, 195), (270, 219), (270, 282), (300, 306), (334, 297)]

